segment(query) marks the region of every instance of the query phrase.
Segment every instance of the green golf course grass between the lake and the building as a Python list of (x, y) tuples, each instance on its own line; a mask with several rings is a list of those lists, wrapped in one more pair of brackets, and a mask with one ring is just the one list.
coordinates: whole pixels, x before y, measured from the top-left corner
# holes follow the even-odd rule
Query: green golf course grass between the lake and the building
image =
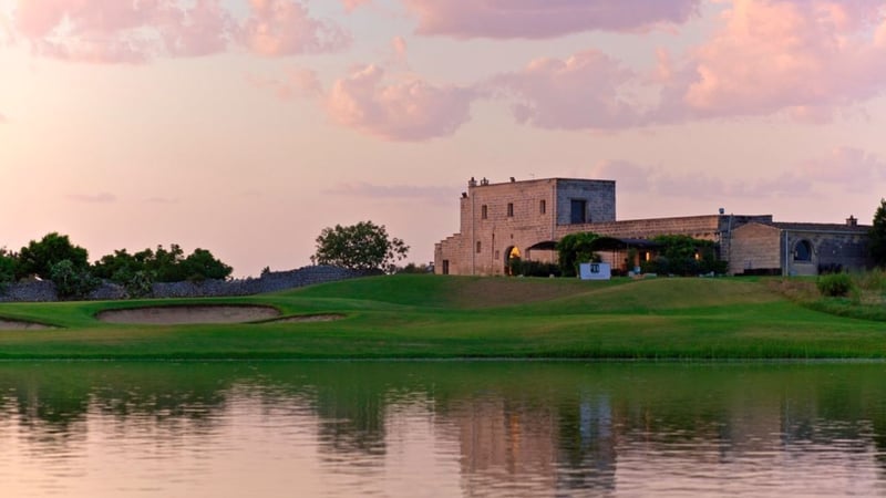
[[(807, 293), (810, 284), (392, 276), (244, 298), (4, 303), (0, 318), (59, 329), (0, 331), (0, 359), (886, 357), (884, 313), (823, 300)], [(107, 309), (187, 303), (346, 318), (224, 325), (95, 319)]]

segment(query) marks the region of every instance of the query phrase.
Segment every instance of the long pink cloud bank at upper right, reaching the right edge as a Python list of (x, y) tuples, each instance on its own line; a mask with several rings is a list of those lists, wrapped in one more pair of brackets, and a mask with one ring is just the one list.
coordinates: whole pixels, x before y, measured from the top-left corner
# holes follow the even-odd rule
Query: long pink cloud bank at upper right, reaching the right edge
[(886, 90), (885, 15), (883, 0), (732, 0), (707, 40), (677, 56), (658, 50), (645, 73), (591, 49), (537, 59), (487, 85), (511, 100), (517, 122), (542, 128), (738, 116), (827, 123)]

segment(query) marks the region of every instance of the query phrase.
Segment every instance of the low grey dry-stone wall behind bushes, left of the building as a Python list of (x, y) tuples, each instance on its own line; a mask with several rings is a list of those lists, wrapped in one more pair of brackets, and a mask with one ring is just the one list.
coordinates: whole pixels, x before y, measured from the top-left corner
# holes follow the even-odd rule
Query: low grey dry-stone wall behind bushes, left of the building
[[(362, 277), (363, 272), (346, 268), (313, 266), (290, 271), (271, 271), (259, 278), (238, 280), (204, 280), (203, 282), (156, 282), (147, 298), (219, 298), (276, 292), (316, 283), (334, 282)], [(104, 282), (86, 298), (89, 300), (127, 299), (126, 290)], [(55, 286), (50, 281), (20, 282), (0, 292), (0, 302), (58, 301)]]

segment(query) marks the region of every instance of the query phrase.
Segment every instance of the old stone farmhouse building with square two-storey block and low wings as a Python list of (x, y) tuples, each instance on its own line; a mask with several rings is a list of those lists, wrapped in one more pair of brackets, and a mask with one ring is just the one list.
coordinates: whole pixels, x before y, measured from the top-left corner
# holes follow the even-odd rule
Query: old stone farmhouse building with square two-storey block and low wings
[[(555, 262), (557, 241), (593, 231), (655, 257), (656, 236), (686, 235), (715, 242), (730, 273), (817, 274), (824, 269), (867, 267), (867, 229), (846, 225), (775, 222), (771, 215), (701, 215), (637, 220), (616, 219), (616, 183), (544, 178), (490, 183), (474, 178), (460, 199), (461, 229), (434, 247), (441, 274), (506, 274), (513, 257)], [(627, 269), (625, 253), (602, 255)]]

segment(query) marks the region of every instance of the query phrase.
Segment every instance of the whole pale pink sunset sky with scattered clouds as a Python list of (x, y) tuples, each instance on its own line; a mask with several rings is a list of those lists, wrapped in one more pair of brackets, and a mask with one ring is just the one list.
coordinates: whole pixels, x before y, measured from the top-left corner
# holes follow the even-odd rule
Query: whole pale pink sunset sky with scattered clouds
[(617, 218), (870, 222), (886, 1), (0, 0), (0, 247), (178, 243), (236, 277), (371, 220), (433, 259), (467, 179)]

